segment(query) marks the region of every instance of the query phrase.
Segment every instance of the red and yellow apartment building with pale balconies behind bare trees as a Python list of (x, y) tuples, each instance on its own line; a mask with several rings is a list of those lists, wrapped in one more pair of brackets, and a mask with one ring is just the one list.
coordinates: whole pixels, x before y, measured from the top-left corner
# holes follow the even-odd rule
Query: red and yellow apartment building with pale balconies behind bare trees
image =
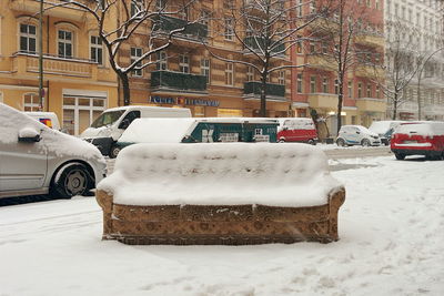
[[(320, 9), (312, 2), (295, 2), (302, 4), (297, 10), (301, 17), (315, 13)], [(292, 71), (292, 109), (296, 116), (307, 116), (312, 110), (316, 111), (326, 121), (331, 135), (335, 135), (337, 126), (339, 63), (334, 52), (340, 42), (341, 30), (340, 1), (334, 2), (331, 7), (333, 13), (310, 25), (301, 35), (305, 38), (304, 41), (291, 52), (294, 64), (306, 64), (305, 68)], [(380, 65), (384, 58), (384, 7), (383, 1), (379, 0), (344, 2), (342, 19), (344, 23), (350, 23), (353, 33), (350, 35), (350, 55), (344, 71), (342, 124), (369, 126), (372, 121), (384, 119), (386, 110), (380, 88), (383, 76)], [(343, 25), (343, 30), (345, 28)], [(345, 32), (344, 44), (347, 37)]]

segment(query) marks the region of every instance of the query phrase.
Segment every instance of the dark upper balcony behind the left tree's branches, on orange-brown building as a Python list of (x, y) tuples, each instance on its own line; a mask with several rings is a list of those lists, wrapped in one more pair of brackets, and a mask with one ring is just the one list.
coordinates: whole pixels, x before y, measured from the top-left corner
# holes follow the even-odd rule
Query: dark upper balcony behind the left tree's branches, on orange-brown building
[(173, 30), (182, 29), (183, 31), (174, 34), (185, 39), (200, 41), (208, 37), (208, 25), (203, 23), (188, 23), (185, 20), (161, 16), (153, 20), (153, 31), (169, 34)]

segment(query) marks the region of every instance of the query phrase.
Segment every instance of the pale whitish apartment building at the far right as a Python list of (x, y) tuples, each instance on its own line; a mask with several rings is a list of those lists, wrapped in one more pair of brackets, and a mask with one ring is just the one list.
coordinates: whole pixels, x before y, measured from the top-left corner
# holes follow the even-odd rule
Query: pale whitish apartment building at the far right
[[(386, 0), (385, 38), (387, 47), (402, 32), (406, 45), (401, 53), (412, 60), (412, 65), (425, 63), (411, 82), (403, 88), (396, 109), (401, 120), (444, 120), (444, 4), (441, 0)], [(392, 45), (393, 47), (393, 45)], [(396, 71), (393, 53), (386, 57), (387, 75)], [(392, 53), (391, 55), (389, 55)], [(389, 81), (389, 80), (387, 80)], [(394, 104), (389, 103), (392, 118)]]

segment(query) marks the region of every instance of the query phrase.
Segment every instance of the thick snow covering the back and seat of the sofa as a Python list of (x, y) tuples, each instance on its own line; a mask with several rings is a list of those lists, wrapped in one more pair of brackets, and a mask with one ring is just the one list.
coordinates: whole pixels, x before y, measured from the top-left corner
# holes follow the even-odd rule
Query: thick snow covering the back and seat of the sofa
[(311, 206), (340, 186), (311, 145), (198, 143), (131, 145), (98, 188), (117, 204)]

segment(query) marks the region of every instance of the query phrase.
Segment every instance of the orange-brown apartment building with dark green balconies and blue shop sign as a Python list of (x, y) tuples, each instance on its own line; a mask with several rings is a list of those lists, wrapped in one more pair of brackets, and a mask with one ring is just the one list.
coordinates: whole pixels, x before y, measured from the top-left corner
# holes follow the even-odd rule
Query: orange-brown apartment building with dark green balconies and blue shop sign
[[(158, 8), (164, 11), (180, 10), (180, 3), (157, 1)], [(159, 45), (171, 30), (186, 29), (174, 35), (167, 50), (151, 58), (154, 64), (133, 71), (131, 103), (189, 108), (193, 116), (258, 116), (259, 74), (251, 67), (234, 62), (254, 62), (252, 54), (235, 38), (236, 29), (230, 28), (232, 10), (242, 4), (243, 1), (196, 1), (182, 13), (162, 17), (154, 34), (152, 25), (141, 28), (124, 45), (121, 53), (123, 62), (130, 63), (148, 50), (143, 37), (151, 34), (152, 43)], [(194, 22), (196, 20), (199, 22)], [(185, 25), (186, 22), (193, 23)], [(290, 61), (283, 55), (276, 62)], [(268, 81), (268, 116), (289, 115), (290, 88), (285, 85), (290, 85), (289, 70), (271, 74)]]

